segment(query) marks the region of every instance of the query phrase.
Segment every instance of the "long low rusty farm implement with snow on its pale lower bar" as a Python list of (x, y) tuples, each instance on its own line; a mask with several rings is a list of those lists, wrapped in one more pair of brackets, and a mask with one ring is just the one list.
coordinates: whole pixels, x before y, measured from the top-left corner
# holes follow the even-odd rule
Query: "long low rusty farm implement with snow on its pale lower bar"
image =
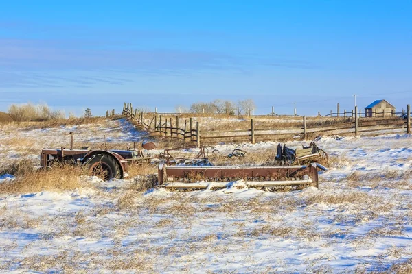
[[(320, 166), (322, 168), (323, 166)], [(167, 166), (159, 165), (159, 186), (172, 189), (319, 187), (319, 165), (308, 166)], [(239, 184), (240, 182), (240, 184)]]

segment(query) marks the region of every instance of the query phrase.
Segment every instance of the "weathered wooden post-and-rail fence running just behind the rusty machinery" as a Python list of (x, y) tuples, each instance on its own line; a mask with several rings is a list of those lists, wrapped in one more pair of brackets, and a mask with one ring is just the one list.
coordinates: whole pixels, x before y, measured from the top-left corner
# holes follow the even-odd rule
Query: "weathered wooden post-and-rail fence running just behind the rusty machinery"
[[(250, 141), (255, 143), (263, 140), (286, 140), (289, 138), (308, 138), (308, 136), (330, 136), (330, 135), (354, 135), (360, 134), (392, 134), (407, 133), (411, 134), (411, 108), (407, 105), (407, 112), (391, 112), (390, 116), (385, 117), (361, 117), (358, 108), (350, 112), (350, 116), (343, 112), (340, 116), (339, 123), (332, 125), (308, 126), (306, 116), (301, 116), (301, 127), (294, 128), (258, 128), (255, 125), (255, 119), (251, 119), (249, 129), (207, 131), (201, 135), (201, 125), (198, 121), (194, 122), (192, 118), (188, 121), (176, 118), (164, 118), (161, 114), (151, 113), (150, 123), (145, 123), (144, 112), (133, 112), (131, 103), (124, 103), (123, 115), (130, 117), (139, 127), (148, 132), (158, 132), (160, 136), (170, 136), (181, 138), (185, 141), (196, 142), (201, 145), (201, 140), (206, 143), (216, 142), (244, 142)], [(388, 114), (389, 115), (389, 114)], [(332, 116), (332, 114), (330, 115)]]

